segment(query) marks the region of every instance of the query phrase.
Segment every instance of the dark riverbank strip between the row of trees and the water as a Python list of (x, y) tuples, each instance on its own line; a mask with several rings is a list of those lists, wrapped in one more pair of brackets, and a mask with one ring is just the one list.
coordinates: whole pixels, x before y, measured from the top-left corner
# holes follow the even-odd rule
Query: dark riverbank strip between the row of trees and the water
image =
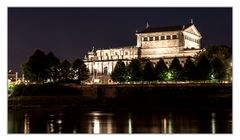
[(231, 84), (19, 86), (9, 109), (232, 109)]

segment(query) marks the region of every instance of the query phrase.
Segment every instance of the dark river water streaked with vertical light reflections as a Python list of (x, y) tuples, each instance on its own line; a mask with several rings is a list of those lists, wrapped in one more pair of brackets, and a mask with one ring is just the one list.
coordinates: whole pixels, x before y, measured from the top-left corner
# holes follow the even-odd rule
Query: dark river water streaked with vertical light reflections
[(9, 111), (8, 133), (232, 133), (232, 112)]

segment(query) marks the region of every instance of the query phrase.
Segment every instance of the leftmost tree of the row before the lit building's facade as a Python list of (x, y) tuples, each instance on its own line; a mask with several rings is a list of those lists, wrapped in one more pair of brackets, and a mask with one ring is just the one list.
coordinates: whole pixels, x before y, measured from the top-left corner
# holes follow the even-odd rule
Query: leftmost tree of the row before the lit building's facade
[(111, 74), (111, 78), (115, 82), (125, 82), (126, 81), (126, 66), (124, 62), (119, 60)]

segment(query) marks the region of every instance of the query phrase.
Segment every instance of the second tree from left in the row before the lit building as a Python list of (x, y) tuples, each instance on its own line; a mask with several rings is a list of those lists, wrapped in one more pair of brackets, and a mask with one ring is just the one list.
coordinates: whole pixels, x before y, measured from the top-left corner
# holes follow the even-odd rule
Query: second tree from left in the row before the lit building
[(129, 73), (129, 81), (141, 81), (143, 76), (143, 71), (141, 68), (141, 61), (139, 59), (131, 60), (127, 67)]

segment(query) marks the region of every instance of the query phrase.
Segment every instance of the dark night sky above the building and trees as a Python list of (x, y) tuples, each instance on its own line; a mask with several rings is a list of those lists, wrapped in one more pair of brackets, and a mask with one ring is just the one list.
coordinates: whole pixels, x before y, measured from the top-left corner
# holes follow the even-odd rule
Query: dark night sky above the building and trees
[(136, 44), (136, 30), (193, 19), (202, 46), (232, 46), (232, 8), (8, 8), (8, 68), (20, 72), (34, 50), (61, 61), (95, 48)]

